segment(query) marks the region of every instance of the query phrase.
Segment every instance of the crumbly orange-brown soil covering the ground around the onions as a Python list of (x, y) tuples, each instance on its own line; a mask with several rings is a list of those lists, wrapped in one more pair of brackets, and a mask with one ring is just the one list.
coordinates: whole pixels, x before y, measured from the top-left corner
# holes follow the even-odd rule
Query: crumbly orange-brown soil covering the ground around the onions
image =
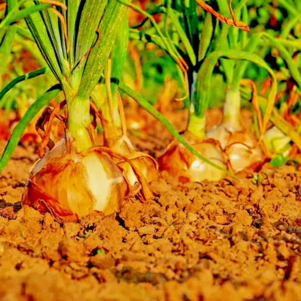
[[(221, 120), (219, 110), (210, 114), (209, 127)], [(183, 112), (170, 117), (184, 129)], [(147, 134), (130, 137), (158, 157), (171, 137), (149, 122)], [(162, 173), (150, 184), (154, 199), (60, 224), (21, 208), (36, 147), (19, 145), (0, 175), (1, 300), (301, 300), (301, 172), (293, 166), (214, 183), (179, 184)]]

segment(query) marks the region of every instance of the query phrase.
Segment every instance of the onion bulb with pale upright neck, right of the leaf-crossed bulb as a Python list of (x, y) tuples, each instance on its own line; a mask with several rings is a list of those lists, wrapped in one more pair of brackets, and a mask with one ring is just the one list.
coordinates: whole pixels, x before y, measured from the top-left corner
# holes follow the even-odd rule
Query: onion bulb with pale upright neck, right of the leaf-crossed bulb
[(256, 137), (242, 127), (239, 114), (240, 93), (228, 88), (223, 121), (207, 133), (207, 137), (220, 142), (235, 173), (263, 160), (263, 153)]

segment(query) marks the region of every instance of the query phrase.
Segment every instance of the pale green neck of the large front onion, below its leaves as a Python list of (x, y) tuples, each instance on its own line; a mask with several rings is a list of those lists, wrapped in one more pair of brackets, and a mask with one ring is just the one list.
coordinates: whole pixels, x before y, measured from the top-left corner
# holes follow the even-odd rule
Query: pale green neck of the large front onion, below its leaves
[(68, 130), (75, 139), (78, 153), (93, 146), (89, 133), (90, 128), (90, 102), (77, 96), (67, 100)]

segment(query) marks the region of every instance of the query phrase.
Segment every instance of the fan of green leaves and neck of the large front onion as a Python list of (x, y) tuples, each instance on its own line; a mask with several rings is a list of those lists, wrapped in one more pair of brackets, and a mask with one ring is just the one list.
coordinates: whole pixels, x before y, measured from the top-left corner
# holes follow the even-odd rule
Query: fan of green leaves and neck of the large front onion
[[(23, 5), (22, 10), (16, 14), (21, 5)], [(72, 2), (67, 13), (64, 3), (60, 6), (53, 6), (27, 0), (21, 1), (18, 6), (17, 3), (14, 3), (11, 11), (10, 7), (9, 3), (8, 14), (0, 24), (0, 34), (4, 33), (3, 36), (6, 38), (8, 36), (4, 32), (6, 25), (16, 22), (21, 17), (25, 18), (34, 41), (64, 91), (67, 99), (70, 133), (80, 141), (77, 143), (80, 145), (79, 147), (90, 145), (87, 142), (87, 139), (90, 139), (88, 132), (81, 136), (78, 129), (79, 127), (85, 128), (90, 122), (89, 97), (105, 67), (121, 27), (121, 21), (125, 16), (126, 6), (116, 0), (103, 1), (101, 4), (95, 0), (82, 0)], [(17, 27), (11, 26), (8, 33), (11, 29), (15, 30), (15, 34)], [(19, 32), (23, 36), (30, 37), (26, 30), (19, 28)], [(68, 37), (68, 33), (70, 37)], [(11, 51), (12, 39), (9, 42), (10, 47), (6, 46), (5, 58)], [(19, 77), (18, 80), (5, 87), (1, 94), (7, 93), (18, 81), (36, 77), (42, 73), (44, 72), (35, 72)], [(22, 117), (7, 144), (0, 162), (0, 169), (6, 165), (28, 123), (43, 106), (46, 106), (58, 94), (58, 91), (58, 88), (48, 90), (32, 104)], [(10, 104), (10, 102), (6, 103)]]

